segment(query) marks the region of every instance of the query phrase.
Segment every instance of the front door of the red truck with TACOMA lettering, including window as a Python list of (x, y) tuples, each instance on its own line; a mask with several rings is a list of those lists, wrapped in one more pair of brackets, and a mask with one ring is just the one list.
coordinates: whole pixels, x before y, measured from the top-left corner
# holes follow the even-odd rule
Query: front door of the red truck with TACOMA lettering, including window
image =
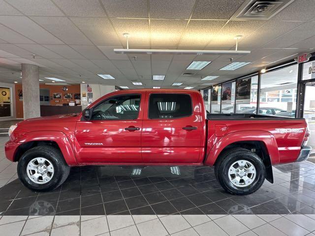
[(91, 120), (81, 118), (75, 131), (79, 163), (142, 163), (141, 128), (145, 92), (105, 98)]

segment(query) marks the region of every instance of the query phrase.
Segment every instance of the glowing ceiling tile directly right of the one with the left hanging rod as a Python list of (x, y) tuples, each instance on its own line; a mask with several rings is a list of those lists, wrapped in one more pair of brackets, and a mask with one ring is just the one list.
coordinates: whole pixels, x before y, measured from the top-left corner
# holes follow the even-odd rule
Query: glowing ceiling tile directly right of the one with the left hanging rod
[(187, 20), (151, 20), (151, 45), (176, 47), (187, 22)]

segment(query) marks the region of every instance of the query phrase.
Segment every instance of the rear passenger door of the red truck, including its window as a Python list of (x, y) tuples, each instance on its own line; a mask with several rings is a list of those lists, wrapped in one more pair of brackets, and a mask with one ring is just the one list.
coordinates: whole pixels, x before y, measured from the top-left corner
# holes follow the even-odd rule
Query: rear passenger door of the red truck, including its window
[(145, 163), (192, 164), (199, 160), (201, 117), (196, 94), (147, 92), (141, 146)]

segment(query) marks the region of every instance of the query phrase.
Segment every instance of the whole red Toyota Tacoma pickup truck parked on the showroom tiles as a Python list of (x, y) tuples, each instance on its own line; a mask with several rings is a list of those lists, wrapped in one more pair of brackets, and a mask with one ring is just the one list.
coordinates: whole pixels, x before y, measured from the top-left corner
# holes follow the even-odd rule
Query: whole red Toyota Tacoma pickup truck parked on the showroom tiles
[(207, 114), (194, 90), (137, 89), (109, 93), (81, 114), (32, 118), (10, 127), (6, 157), (35, 191), (60, 186), (71, 166), (215, 166), (229, 193), (256, 191), (272, 165), (306, 160), (304, 119)]

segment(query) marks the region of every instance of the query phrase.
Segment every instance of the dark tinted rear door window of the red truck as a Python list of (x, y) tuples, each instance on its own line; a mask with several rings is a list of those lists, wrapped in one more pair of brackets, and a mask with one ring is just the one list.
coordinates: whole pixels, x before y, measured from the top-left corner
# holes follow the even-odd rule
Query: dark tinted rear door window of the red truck
[(188, 117), (192, 114), (191, 98), (188, 94), (151, 94), (149, 118), (166, 119)]

